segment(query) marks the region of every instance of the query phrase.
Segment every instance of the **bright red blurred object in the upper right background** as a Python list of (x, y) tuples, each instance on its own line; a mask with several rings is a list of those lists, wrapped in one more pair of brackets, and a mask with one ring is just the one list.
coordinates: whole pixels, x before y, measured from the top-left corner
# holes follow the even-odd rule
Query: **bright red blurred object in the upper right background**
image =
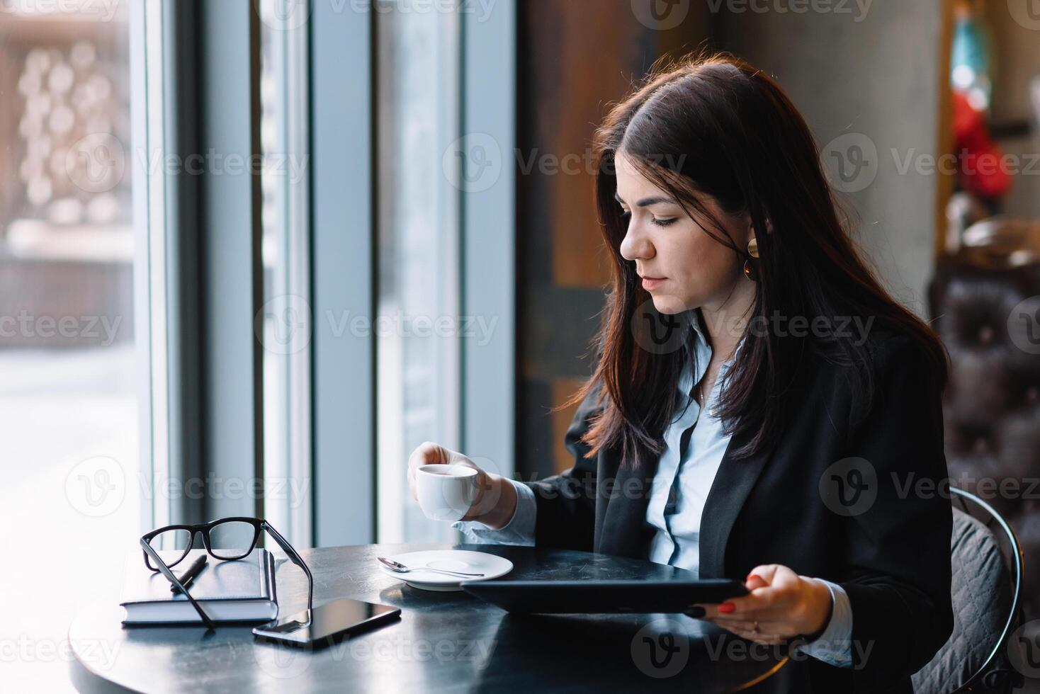
[(1004, 153), (990, 139), (983, 114), (960, 91), (954, 98), (954, 140), (961, 187), (982, 198), (1003, 197), (1011, 189)]

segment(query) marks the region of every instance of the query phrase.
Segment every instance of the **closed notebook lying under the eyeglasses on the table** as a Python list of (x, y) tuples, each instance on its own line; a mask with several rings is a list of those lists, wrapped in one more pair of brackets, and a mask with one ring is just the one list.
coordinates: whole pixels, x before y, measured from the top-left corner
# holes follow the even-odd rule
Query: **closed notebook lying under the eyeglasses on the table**
[[(173, 568), (180, 578), (205, 550), (191, 550)], [(180, 552), (160, 552), (163, 560), (175, 561)], [(188, 585), (188, 592), (213, 621), (270, 621), (278, 617), (275, 593), (275, 561), (271, 554), (257, 549), (243, 559), (222, 561), (207, 557), (206, 567)], [(181, 593), (170, 592), (171, 583), (162, 573), (145, 566), (140, 550), (127, 557), (123, 600), (124, 624), (202, 623), (199, 613)]]

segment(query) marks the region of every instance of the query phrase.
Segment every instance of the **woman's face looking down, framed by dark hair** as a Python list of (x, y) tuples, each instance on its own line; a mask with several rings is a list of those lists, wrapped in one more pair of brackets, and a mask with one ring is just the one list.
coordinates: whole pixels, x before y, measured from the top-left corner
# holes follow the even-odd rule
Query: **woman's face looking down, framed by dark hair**
[[(691, 219), (682, 207), (651, 183), (619, 152), (615, 157), (617, 199), (628, 221), (621, 242), (621, 255), (635, 262), (644, 289), (653, 297), (661, 314), (679, 314), (690, 309), (719, 311), (732, 298), (737, 283), (750, 282), (743, 272), (744, 262), (712, 239)], [(737, 247), (747, 247), (752, 238), (750, 217), (725, 214), (710, 197), (705, 205), (726, 225)], [(658, 278), (647, 282), (647, 277)]]

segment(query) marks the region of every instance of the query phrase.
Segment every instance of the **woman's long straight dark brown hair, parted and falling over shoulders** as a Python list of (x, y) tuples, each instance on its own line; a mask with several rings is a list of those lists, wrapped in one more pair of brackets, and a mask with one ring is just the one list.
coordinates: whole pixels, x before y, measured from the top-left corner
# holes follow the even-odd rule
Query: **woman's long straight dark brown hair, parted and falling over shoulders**
[[(702, 199), (710, 195), (730, 215), (750, 215), (759, 259), (751, 319), (858, 318), (873, 330), (908, 336), (945, 384), (948, 356), (935, 332), (882, 287), (839, 220), (838, 206), (820, 163), (818, 148), (801, 114), (768, 75), (727, 53), (695, 54), (657, 63), (624, 101), (609, 110), (594, 140), (596, 203), (613, 262), (601, 327), (590, 349), (599, 358), (584, 386), (561, 407), (598, 390), (602, 411), (582, 437), (587, 457), (604, 447), (621, 451), (622, 465), (641, 452), (659, 455), (680, 398), (677, 383), (690, 351), (652, 350), (633, 321), (654, 313), (635, 264), (621, 256), (627, 223), (615, 199), (615, 158), (624, 152), (639, 171), (670, 192), (716, 241), (743, 262), (748, 256)], [(766, 233), (769, 223), (770, 233)], [(847, 222), (848, 223), (848, 222)], [(674, 317), (660, 317), (661, 322)], [(872, 323), (865, 323), (873, 320)], [(671, 325), (675, 325), (673, 320)], [(761, 324), (761, 323), (759, 323)], [(781, 337), (748, 330), (724, 379), (717, 415), (728, 433), (748, 434), (732, 452), (746, 457), (777, 441), (797, 407), (790, 402), (811, 372), (811, 359), (850, 367), (855, 411), (869, 410), (877, 376), (869, 341), (840, 335)]]

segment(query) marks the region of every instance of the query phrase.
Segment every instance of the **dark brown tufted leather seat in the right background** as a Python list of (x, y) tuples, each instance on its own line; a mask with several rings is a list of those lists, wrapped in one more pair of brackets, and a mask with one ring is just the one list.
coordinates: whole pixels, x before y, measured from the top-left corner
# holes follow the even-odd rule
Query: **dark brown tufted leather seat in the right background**
[(1037, 295), (1040, 264), (1000, 266), (964, 255), (940, 262), (929, 288), (933, 326), (952, 363), (943, 394), (950, 475), (1018, 533), (1025, 619), (1040, 617), (1040, 571), (1030, 570), (1040, 558), (1040, 355), (1012, 342), (1008, 319)]

